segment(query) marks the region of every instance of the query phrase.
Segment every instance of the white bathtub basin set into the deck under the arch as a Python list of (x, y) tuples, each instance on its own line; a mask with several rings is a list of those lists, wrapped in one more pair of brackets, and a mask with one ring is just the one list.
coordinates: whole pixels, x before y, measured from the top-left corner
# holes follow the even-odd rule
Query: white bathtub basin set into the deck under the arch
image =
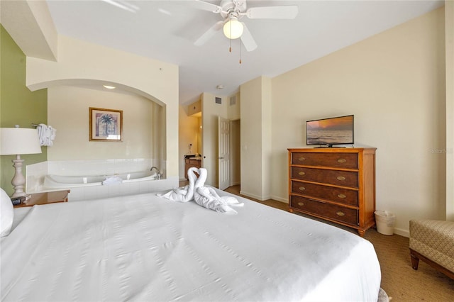
[[(120, 183), (135, 181), (149, 181), (157, 179), (157, 174), (150, 171), (130, 172), (114, 175), (92, 175), (92, 176), (65, 176), (65, 175), (46, 175), (44, 178), (44, 187), (46, 189), (56, 188), (77, 188), (79, 186), (101, 186), (103, 181), (109, 177), (120, 177)], [(114, 183), (113, 183), (114, 184)]]

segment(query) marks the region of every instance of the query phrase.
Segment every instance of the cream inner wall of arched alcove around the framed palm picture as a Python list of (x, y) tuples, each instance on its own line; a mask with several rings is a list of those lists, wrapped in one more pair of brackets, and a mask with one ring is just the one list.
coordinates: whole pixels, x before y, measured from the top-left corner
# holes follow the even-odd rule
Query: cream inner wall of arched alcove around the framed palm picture
[[(102, 84), (116, 88), (106, 89)], [(167, 179), (162, 102), (154, 101), (153, 96), (145, 97), (147, 94), (138, 89), (111, 82), (65, 79), (46, 86), (48, 125), (57, 130), (57, 138), (48, 147), (45, 172), (42, 164), (29, 167), (28, 174), (36, 176), (36, 181), (33, 177), (28, 181), (30, 191), (40, 191), (45, 174), (114, 175), (145, 172), (153, 166), (160, 169), (166, 181), (172, 181), (172, 177)], [(121, 111), (121, 141), (89, 139), (89, 108)], [(84, 191), (74, 191), (72, 199), (83, 198), (81, 192)]]

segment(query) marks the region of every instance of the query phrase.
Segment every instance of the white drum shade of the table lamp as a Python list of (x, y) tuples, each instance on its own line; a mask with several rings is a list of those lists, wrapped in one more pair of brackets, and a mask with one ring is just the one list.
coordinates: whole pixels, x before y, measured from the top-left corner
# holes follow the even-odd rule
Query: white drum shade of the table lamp
[(38, 130), (28, 128), (0, 128), (0, 155), (41, 153)]

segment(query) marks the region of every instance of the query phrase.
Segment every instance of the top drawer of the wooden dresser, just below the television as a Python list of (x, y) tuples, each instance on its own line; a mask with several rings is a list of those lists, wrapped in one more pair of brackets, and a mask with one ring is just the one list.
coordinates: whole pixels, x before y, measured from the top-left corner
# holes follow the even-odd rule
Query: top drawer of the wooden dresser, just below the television
[(358, 169), (358, 153), (292, 152), (292, 164), (344, 169)]

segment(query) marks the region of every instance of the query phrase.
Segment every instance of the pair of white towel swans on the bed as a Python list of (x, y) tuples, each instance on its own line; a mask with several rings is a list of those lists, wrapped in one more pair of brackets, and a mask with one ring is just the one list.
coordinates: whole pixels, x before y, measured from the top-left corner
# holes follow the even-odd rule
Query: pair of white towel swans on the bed
[[(199, 178), (194, 173), (198, 173)], [(219, 196), (213, 188), (205, 186), (208, 175), (205, 168), (197, 169), (191, 167), (187, 170), (187, 175), (189, 185), (172, 189), (165, 194), (157, 194), (157, 196), (179, 202), (194, 200), (199, 206), (230, 215), (237, 213), (231, 206), (244, 206), (244, 203), (240, 203), (237, 198), (233, 196)]]

